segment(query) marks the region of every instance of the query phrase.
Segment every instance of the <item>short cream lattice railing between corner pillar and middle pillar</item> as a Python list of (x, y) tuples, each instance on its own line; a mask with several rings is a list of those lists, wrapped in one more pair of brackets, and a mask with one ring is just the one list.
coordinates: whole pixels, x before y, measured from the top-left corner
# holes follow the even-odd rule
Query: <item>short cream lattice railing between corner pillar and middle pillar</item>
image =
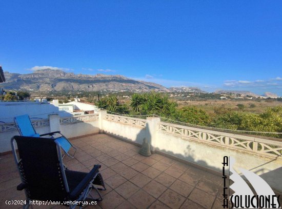
[(142, 128), (146, 127), (145, 119), (130, 118), (130, 117), (118, 116), (112, 114), (105, 114), (104, 119), (109, 121), (119, 122), (119, 123), (125, 123), (128, 125), (134, 125)]

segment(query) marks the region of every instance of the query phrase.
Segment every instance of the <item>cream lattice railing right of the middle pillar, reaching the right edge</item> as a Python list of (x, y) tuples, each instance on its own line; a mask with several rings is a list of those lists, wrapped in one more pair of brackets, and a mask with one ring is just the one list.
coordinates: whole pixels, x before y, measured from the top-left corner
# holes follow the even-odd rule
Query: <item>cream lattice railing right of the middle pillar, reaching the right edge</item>
[(240, 150), (252, 151), (267, 156), (282, 156), (282, 141), (272, 141), (226, 132), (194, 128), (161, 122), (158, 131), (183, 138), (202, 141)]

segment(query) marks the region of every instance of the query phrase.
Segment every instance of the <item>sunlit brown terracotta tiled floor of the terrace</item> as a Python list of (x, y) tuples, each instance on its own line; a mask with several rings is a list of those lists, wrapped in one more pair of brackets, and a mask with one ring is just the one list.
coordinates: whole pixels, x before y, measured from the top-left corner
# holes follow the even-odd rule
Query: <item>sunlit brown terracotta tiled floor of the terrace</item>
[[(75, 159), (65, 157), (65, 165), (82, 172), (89, 172), (94, 164), (102, 165), (107, 187), (101, 192), (103, 201), (85, 208), (222, 208), (220, 176), (159, 154), (144, 157), (138, 154), (139, 147), (104, 134), (71, 142), (77, 153)], [(24, 192), (16, 190), (21, 179), (12, 154), (0, 156), (0, 167), (0, 208), (22, 207), (5, 203), (25, 200)]]

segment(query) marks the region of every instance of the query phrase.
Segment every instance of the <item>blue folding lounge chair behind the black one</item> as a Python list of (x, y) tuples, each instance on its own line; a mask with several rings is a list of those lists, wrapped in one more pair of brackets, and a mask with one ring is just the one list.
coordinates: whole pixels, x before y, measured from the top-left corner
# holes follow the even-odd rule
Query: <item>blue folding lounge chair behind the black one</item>
[[(18, 132), (21, 136), (24, 136), (24, 137), (42, 137), (42, 136), (49, 135), (49, 136), (51, 136), (51, 138), (55, 139), (55, 141), (58, 142), (59, 145), (61, 146), (61, 148), (64, 150), (65, 154), (63, 155), (63, 158), (65, 157), (65, 155), (67, 155), (71, 158), (74, 157), (74, 154), (76, 152), (76, 148), (70, 143), (70, 141), (64, 135), (61, 134), (61, 131), (55, 131), (55, 132), (50, 132), (48, 134), (39, 135), (39, 134), (36, 133), (28, 115), (22, 115), (22, 116), (14, 117), (14, 122), (15, 122), (17, 130), (18, 130)], [(55, 134), (59, 134), (61, 136), (55, 138), (54, 137)], [(69, 153), (69, 150), (70, 150), (71, 147), (73, 147), (75, 149), (73, 155), (71, 155)]]

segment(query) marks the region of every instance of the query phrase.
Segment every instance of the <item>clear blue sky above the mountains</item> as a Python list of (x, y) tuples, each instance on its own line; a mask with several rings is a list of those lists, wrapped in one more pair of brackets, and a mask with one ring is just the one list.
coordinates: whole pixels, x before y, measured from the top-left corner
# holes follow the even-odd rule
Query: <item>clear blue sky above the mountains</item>
[(1, 1), (0, 65), (282, 96), (282, 1)]

